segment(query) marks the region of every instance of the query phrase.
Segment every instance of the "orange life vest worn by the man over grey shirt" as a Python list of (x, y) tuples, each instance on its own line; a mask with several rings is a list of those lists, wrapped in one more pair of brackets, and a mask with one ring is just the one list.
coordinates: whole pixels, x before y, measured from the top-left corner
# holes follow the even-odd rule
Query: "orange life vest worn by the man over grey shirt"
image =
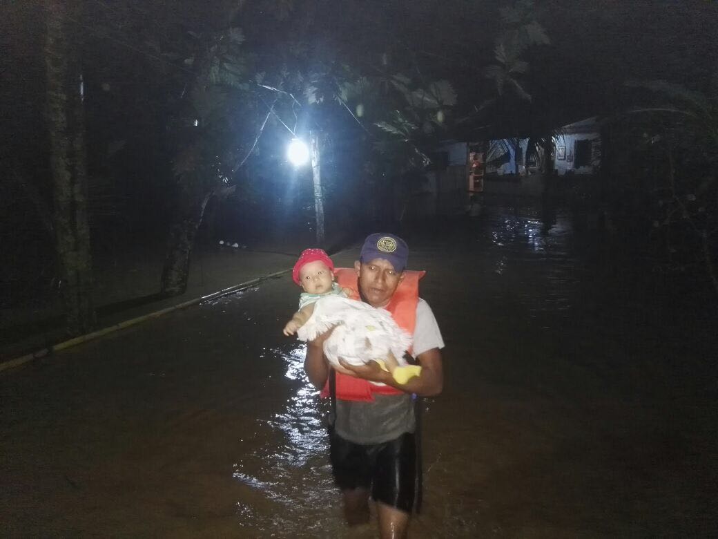
[[(335, 270), (337, 282), (342, 288), (352, 290), (351, 298), (359, 300), (359, 287), (357, 273), (353, 268), (340, 267)], [(419, 303), (419, 279), (424, 277), (426, 272), (406, 271), (396, 291), (391, 296), (388, 305), (384, 307), (391, 313), (391, 317), (398, 326), (414, 335), (416, 326), (416, 305)], [(404, 395), (404, 392), (388, 385), (376, 385), (368, 380), (336, 372), (337, 399), (358, 400), (370, 402), (374, 400), (373, 393), (380, 395)], [(322, 397), (330, 395), (329, 380), (322, 388)]]

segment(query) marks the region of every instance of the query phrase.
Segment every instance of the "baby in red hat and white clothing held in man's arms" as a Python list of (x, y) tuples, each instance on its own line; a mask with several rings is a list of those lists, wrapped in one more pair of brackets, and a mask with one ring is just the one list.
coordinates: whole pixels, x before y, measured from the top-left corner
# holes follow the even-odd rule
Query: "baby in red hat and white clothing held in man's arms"
[(334, 263), (326, 252), (302, 252), (292, 278), (304, 292), (299, 297), (299, 310), (284, 326), (284, 335), (297, 333), (302, 341), (312, 341), (334, 328), (324, 351), (338, 370), (342, 370), (341, 357), (355, 365), (376, 361), (399, 384), (419, 376), (421, 367), (404, 360), (404, 352), (411, 346), (409, 333), (396, 325), (388, 311), (349, 299), (354, 292), (335, 282)]

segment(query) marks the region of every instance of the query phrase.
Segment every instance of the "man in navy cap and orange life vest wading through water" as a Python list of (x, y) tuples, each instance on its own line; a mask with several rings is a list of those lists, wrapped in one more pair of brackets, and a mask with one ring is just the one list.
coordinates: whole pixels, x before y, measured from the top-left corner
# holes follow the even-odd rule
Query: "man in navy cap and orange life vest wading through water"
[[(417, 464), (416, 415), (412, 394), (439, 395), (444, 374), (444, 347), (429, 305), (419, 298), (424, 272), (406, 271), (409, 249), (392, 234), (372, 234), (364, 241), (354, 270), (337, 270), (341, 287), (374, 308), (388, 310), (398, 326), (414, 339), (411, 356), (421, 374), (398, 384), (389, 372), (370, 361), (362, 366), (342, 362), (331, 369), (322, 346), (330, 332), (307, 345), (304, 370), (309, 381), (332, 398), (330, 459), (337, 487), (342, 489), (349, 525), (369, 519), (369, 497), (376, 502), (382, 538), (406, 537), (415, 507)], [(372, 383), (380, 382), (380, 384)]]

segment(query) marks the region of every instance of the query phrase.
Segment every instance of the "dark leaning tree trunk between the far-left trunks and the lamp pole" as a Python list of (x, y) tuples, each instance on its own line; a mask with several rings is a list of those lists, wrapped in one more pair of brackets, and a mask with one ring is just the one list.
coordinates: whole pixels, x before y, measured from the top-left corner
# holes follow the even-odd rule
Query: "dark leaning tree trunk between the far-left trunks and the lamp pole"
[(211, 196), (212, 193), (195, 193), (194, 196), (185, 194), (181, 198), (181, 209), (175, 214), (169, 229), (167, 255), (162, 268), (162, 295), (181, 295), (187, 291), (192, 247)]

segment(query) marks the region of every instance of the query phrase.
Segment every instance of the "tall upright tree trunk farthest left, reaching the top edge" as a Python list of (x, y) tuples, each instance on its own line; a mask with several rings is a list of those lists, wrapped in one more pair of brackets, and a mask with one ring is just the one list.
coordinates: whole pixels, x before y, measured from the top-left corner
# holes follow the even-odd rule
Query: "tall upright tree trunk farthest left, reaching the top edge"
[(47, 125), (53, 184), (55, 249), (67, 333), (93, 328), (92, 260), (88, 226), (88, 178), (85, 156), (83, 87), (74, 29), (67, 16), (79, 18), (76, 2), (47, 1), (45, 74)]

